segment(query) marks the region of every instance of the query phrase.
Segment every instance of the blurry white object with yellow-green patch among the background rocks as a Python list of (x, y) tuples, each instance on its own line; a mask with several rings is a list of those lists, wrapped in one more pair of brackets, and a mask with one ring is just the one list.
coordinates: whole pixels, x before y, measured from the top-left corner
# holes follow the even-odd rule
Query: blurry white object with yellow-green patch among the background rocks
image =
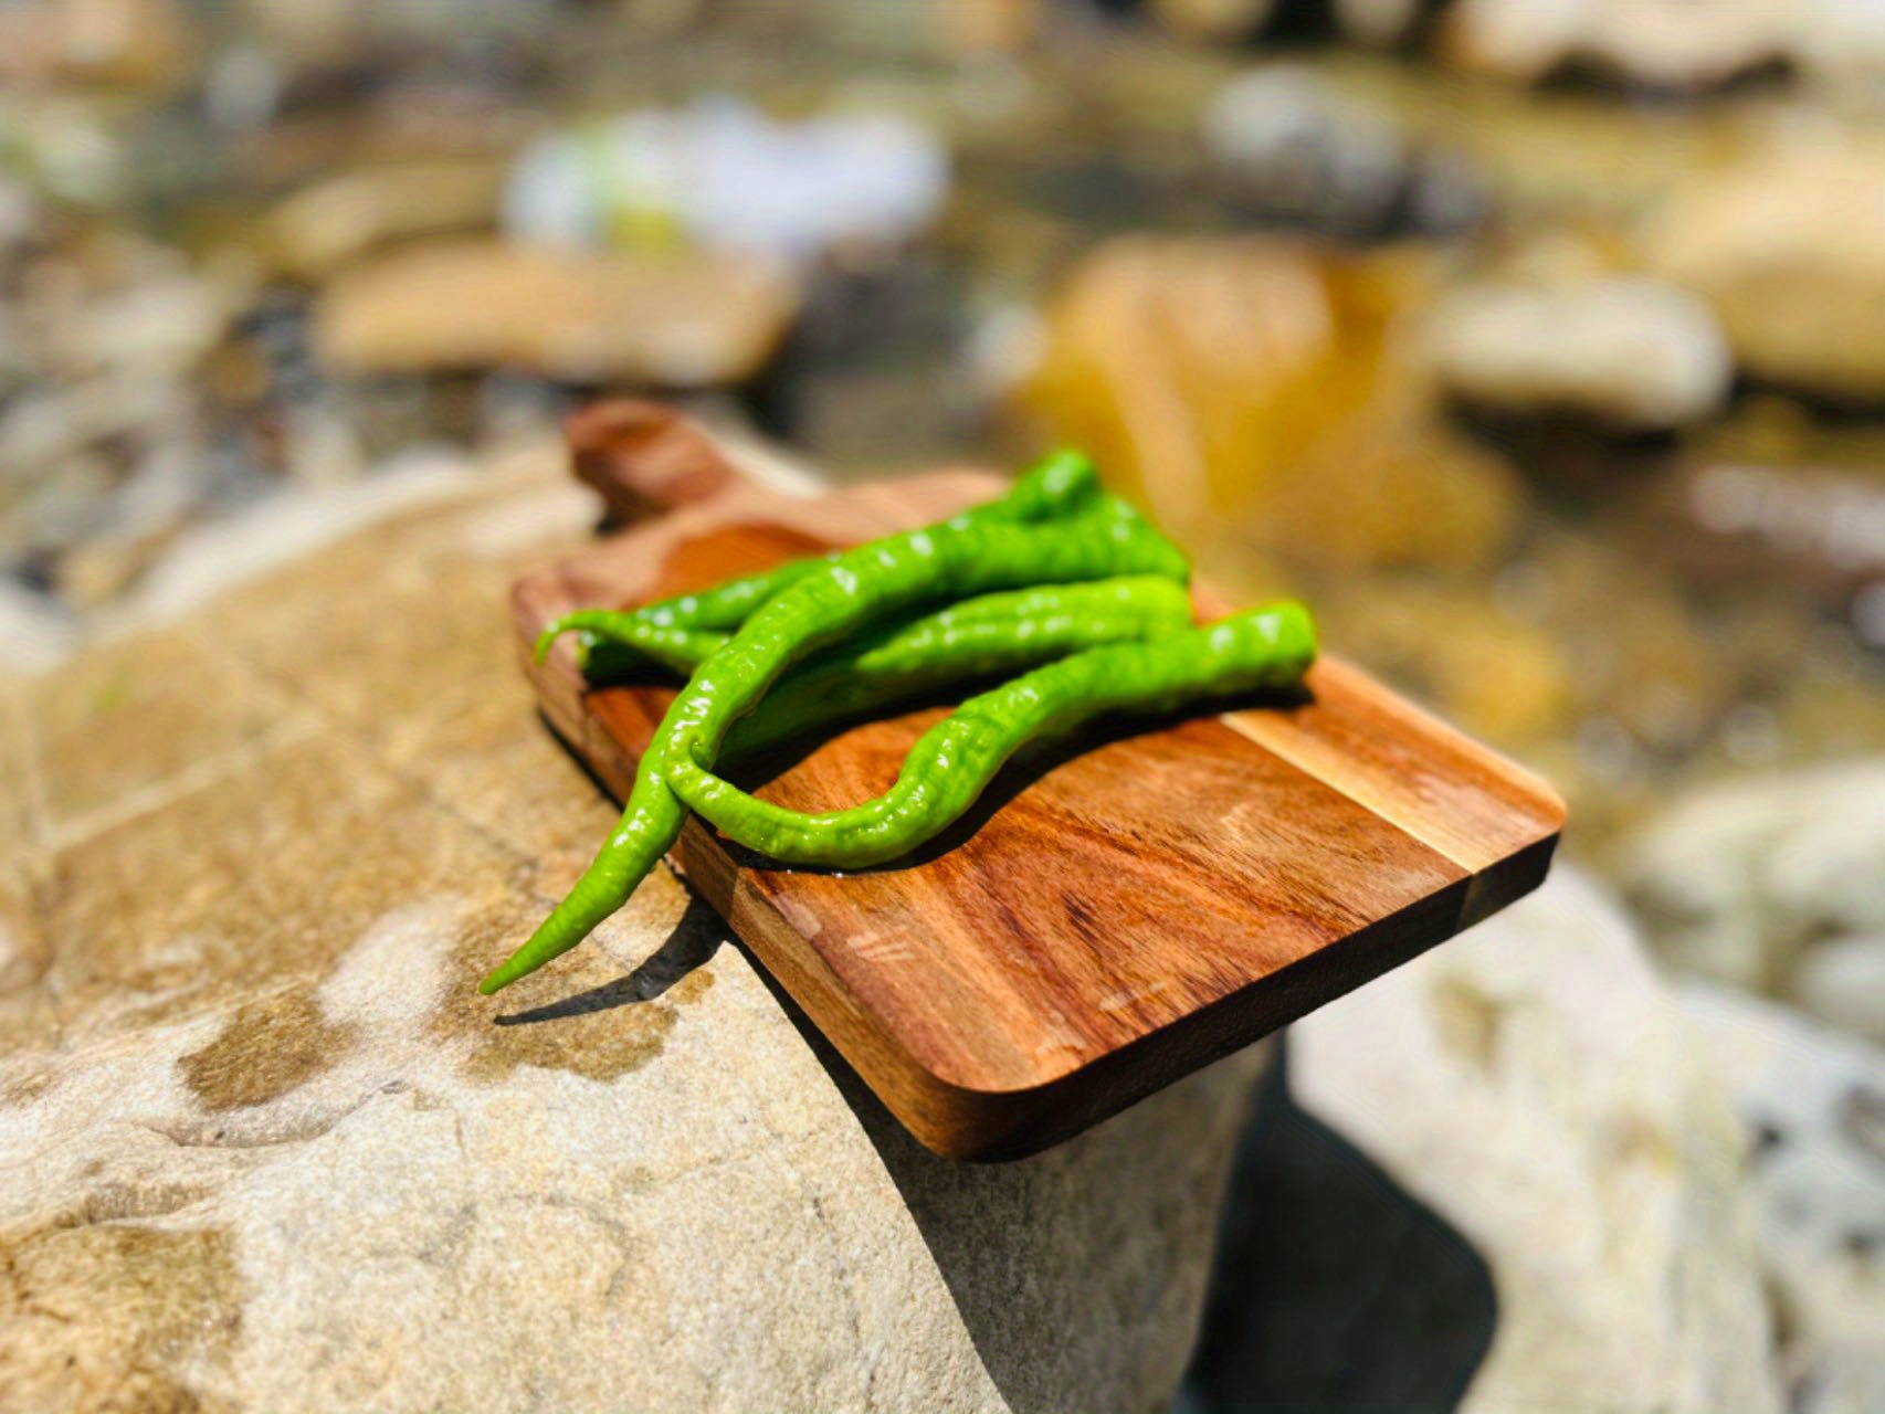
[(641, 109), (541, 138), (503, 198), (511, 236), (573, 245), (660, 241), (811, 260), (844, 241), (924, 230), (948, 194), (948, 158), (890, 113), (773, 123), (733, 98)]

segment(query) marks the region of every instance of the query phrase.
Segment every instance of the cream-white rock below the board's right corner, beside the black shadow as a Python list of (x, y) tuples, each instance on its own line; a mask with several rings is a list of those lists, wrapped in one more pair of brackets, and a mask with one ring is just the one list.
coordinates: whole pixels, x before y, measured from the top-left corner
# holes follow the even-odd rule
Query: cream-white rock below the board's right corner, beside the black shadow
[(1529, 899), (1291, 1031), (1297, 1101), (1485, 1258), (1463, 1408), (1778, 1410), (1744, 1135), (1617, 905)]

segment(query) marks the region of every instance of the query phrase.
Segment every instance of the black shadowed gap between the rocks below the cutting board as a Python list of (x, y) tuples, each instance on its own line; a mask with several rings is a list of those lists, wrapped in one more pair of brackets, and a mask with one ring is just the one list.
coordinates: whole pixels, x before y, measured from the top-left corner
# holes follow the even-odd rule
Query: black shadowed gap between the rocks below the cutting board
[(1238, 1143), (1176, 1410), (1459, 1406), (1493, 1342), (1485, 1261), (1289, 1097), (1287, 1046)]

